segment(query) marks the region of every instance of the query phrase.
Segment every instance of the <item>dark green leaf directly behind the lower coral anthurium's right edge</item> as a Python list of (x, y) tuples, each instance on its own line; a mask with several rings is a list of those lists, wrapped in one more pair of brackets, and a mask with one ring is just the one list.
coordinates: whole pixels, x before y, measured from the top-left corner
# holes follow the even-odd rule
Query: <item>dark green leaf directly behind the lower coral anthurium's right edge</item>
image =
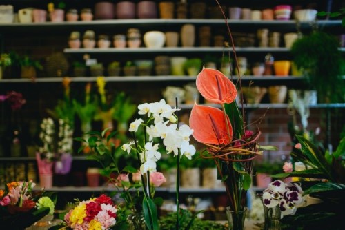
[(228, 115), (231, 125), (233, 126), (233, 135), (235, 137), (242, 137), (243, 133), (243, 117), (241, 111), (234, 101), (230, 104), (224, 104), (225, 112)]

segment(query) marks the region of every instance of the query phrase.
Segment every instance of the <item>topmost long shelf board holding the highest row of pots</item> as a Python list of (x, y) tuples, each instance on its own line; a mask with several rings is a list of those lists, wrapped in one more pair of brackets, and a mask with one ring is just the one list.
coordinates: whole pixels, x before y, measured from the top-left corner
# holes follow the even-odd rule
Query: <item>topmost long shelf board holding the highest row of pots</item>
[[(224, 25), (224, 19), (113, 19), (113, 20), (94, 20), (94, 21), (63, 21), (63, 22), (43, 22), (43, 23), (3, 23), (0, 25), (1, 32), (17, 32), (26, 28), (30, 28), (32, 32), (59, 32), (61, 30), (70, 29), (92, 29), (92, 28), (123, 28), (124, 26), (137, 26), (139, 28), (165, 29), (166, 26), (181, 26), (186, 23), (195, 25)], [(285, 30), (296, 30), (297, 21), (294, 20), (234, 20), (228, 19), (228, 24), (231, 28), (260, 28), (262, 26), (281, 29), (284, 26)], [(339, 26), (342, 24), (341, 20), (319, 20), (316, 22), (317, 26)], [(298, 23), (302, 29), (310, 29), (312, 27), (309, 22)]]

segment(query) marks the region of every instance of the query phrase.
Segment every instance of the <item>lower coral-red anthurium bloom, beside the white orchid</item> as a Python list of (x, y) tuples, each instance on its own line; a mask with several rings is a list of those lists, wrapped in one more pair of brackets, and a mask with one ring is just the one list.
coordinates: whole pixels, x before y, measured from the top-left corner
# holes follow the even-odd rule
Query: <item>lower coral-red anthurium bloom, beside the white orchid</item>
[[(225, 121), (228, 123), (229, 131)], [(189, 125), (194, 130), (193, 137), (201, 143), (228, 144), (233, 139), (230, 119), (219, 108), (195, 104), (190, 113)]]

